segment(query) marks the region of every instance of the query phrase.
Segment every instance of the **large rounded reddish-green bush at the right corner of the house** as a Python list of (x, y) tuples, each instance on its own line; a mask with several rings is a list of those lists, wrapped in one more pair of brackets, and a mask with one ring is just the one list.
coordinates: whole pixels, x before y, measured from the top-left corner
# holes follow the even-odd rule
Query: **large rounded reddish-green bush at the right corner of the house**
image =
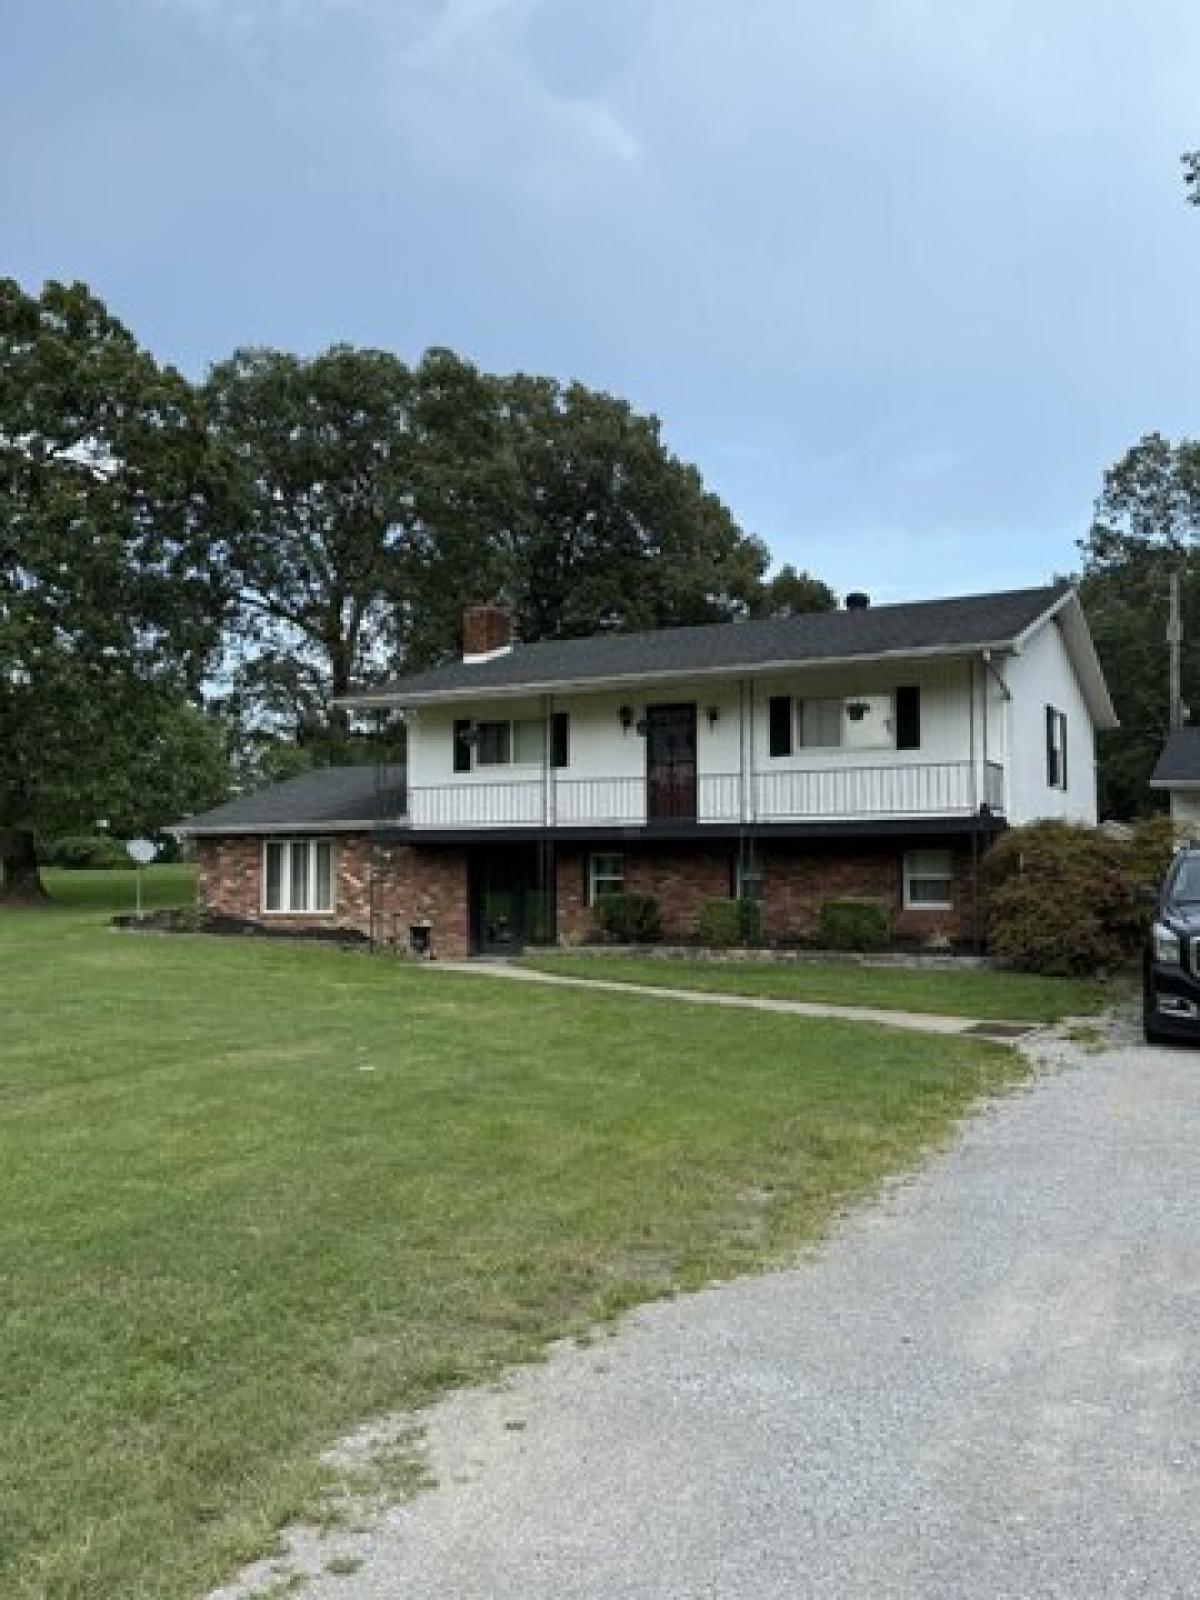
[(1152, 877), (1160, 861), (1165, 870), (1170, 853), (1163, 859), (1154, 834), (1134, 848), (1083, 822), (1010, 829), (984, 856), (992, 955), (1062, 978), (1125, 966), (1146, 933), (1139, 875)]

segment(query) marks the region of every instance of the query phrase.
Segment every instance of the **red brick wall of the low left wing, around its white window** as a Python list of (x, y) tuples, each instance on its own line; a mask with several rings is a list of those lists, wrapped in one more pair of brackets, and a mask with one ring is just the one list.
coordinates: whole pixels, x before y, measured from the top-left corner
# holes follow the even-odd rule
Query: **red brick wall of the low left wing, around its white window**
[(371, 931), (371, 875), (374, 872), (374, 936), (408, 944), (414, 922), (432, 925), (434, 950), (445, 957), (467, 954), (467, 861), (461, 850), (381, 845), (373, 851), (365, 834), (341, 834), (334, 842), (336, 902), (325, 915), (262, 914), (262, 838), (197, 840), (198, 901), (270, 926), (354, 928)]

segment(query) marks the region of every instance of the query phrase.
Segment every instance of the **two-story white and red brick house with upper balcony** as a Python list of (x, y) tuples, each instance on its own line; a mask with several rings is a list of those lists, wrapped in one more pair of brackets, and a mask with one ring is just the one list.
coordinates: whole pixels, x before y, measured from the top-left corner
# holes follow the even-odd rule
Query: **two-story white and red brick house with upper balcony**
[(1096, 821), (1112, 701), (1069, 586), (648, 634), (514, 642), (355, 696), (400, 715), (406, 781), (314, 773), (186, 824), (202, 899), (437, 955), (578, 942), (605, 894), (754, 896), (773, 941), (870, 896), (898, 938), (978, 934), (978, 861), (1035, 818)]

